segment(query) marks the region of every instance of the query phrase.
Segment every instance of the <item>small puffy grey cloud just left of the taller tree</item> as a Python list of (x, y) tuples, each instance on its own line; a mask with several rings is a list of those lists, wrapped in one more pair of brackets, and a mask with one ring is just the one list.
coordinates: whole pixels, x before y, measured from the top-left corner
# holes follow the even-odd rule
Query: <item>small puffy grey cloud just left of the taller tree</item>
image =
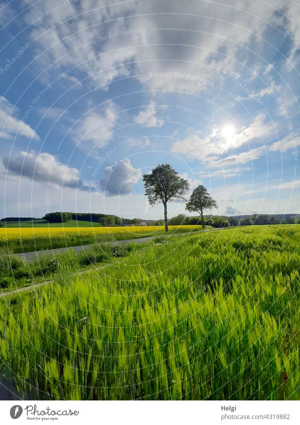
[(107, 195), (127, 195), (132, 192), (133, 185), (138, 182), (141, 171), (134, 169), (129, 159), (116, 161), (104, 168), (105, 177), (100, 180), (100, 188)]

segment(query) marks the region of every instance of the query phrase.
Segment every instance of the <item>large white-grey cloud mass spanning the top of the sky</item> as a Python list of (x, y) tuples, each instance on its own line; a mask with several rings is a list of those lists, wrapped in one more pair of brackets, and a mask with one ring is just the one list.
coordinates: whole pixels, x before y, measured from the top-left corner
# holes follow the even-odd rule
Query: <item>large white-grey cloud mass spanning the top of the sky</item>
[(209, 90), (203, 81), (218, 79), (219, 71), (234, 70), (241, 46), (255, 49), (278, 20), (276, 8), (284, 5), (274, 0), (272, 7), (261, 3), (257, 9), (251, 0), (229, 3), (85, 0), (46, 13), (53, 3), (44, 0), (24, 15), (43, 69), (76, 67), (74, 73), (96, 86), (135, 74), (150, 89), (196, 93)]

